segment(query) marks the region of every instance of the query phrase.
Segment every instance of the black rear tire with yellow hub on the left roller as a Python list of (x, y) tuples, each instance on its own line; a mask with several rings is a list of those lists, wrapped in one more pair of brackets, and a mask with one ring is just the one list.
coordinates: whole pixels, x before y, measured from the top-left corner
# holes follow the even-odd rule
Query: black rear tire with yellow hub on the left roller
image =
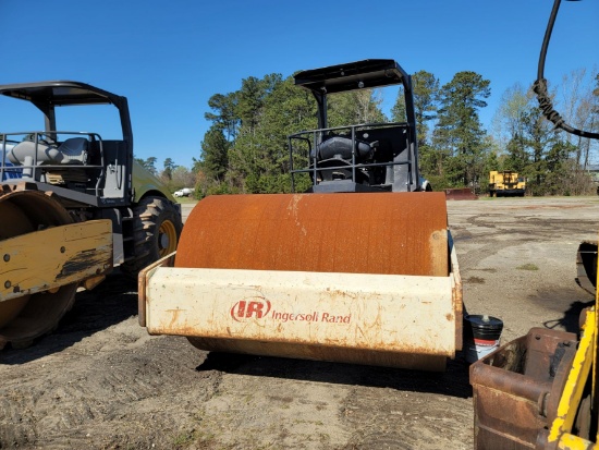
[(143, 198), (133, 214), (135, 256), (121, 270), (137, 277), (144, 267), (176, 250), (183, 223), (174, 204), (162, 197)]

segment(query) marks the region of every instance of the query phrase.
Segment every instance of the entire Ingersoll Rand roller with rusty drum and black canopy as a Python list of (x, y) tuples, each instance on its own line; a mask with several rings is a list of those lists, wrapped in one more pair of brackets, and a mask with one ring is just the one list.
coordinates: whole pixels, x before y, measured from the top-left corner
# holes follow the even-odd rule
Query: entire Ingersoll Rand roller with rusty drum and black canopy
[[(300, 72), (317, 130), (289, 136), (302, 194), (200, 200), (139, 275), (139, 323), (201, 350), (443, 370), (462, 282), (443, 193), (418, 171), (409, 75), (393, 60)], [(402, 84), (407, 121), (328, 127), (327, 97)]]

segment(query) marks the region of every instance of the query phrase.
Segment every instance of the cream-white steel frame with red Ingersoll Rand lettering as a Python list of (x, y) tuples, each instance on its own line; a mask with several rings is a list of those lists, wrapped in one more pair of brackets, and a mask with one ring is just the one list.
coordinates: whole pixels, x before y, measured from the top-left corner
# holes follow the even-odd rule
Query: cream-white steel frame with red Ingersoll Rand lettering
[(448, 277), (173, 268), (139, 278), (150, 335), (454, 357), (462, 342), (455, 251)]

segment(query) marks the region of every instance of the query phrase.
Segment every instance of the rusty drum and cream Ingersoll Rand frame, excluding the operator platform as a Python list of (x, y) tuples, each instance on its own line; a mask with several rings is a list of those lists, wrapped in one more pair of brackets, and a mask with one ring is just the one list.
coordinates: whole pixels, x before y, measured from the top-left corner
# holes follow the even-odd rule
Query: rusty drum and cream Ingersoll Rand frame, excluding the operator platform
[(148, 332), (203, 350), (442, 370), (461, 349), (442, 193), (210, 196), (139, 280)]

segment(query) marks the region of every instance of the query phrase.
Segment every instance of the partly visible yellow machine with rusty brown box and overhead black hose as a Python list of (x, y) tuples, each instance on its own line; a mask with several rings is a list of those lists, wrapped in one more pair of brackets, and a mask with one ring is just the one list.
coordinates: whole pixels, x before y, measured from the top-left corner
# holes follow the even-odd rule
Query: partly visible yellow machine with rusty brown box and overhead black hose
[[(554, 0), (535, 92), (545, 117), (557, 127), (599, 138), (599, 133), (567, 125), (547, 92), (545, 57), (559, 8), (560, 0)], [(577, 264), (578, 277), (592, 280), (587, 290), (594, 292), (596, 243), (580, 244)], [(470, 366), (476, 449), (599, 449), (598, 311), (595, 292), (595, 306), (583, 312), (578, 336), (533, 328)]]

